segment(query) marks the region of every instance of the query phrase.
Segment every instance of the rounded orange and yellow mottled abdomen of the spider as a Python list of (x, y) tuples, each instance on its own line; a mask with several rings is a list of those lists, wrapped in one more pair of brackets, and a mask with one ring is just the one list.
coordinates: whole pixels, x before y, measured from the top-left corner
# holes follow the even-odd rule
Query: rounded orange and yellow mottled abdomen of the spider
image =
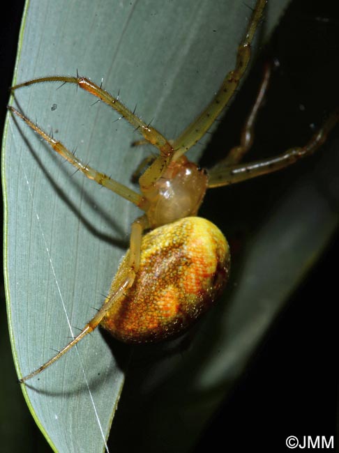
[[(128, 256), (129, 252), (110, 295), (128, 273)], [(158, 227), (142, 238), (140, 268), (133, 286), (100, 325), (128, 343), (179, 335), (216, 300), (227, 282), (229, 261), (223, 233), (202, 217), (185, 217)]]

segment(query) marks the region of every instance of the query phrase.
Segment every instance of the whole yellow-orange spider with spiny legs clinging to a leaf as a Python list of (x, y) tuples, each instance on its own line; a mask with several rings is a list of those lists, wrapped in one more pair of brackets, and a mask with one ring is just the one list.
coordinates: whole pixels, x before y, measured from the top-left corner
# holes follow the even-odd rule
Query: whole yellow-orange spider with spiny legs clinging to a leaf
[[(158, 155), (148, 160), (149, 167), (139, 178), (139, 194), (84, 164), (61, 141), (48, 135), (22, 112), (8, 107), (85, 176), (144, 211), (144, 215), (132, 224), (130, 248), (98, 313), (57, 355), (22, 377), (20, 383), (59, 360), (98, 325), (128, 343), (161, 341), (188, 329), (218, 298), (229, 275), (227, 240), (215, 225), (197, 217), (206, 190), (246, 181), (294, 164), (316, 151), (338, 121), (338, 113), (332, 114), (303, 147), (289, 148), (273, 158), (241, 164), (252, 145), (255, 118), (269, 84), (271, 71), (266, 66), (257, 99), (243, 126), (239, 146), (232, 148), (209, 171), (200, 169), (186, 158), (186, 152), (204, 136), (223, 112), (246, 72), (251, 43), (265, 6), (266, 0), (257, 0), (239, 45), (236, 66), (226, 75), (215, 98), (173, 141), (144, 123), (102, 86), (78, 74), (76, 77), (40, 77), (12, 87), (12, 91), (15, 91), (43, 82), (76, 84), (110, 105), (133, 125), (142, 135), (140, 143), (146, 142), (158, 148)], [(151, 231), (145, 233), (148, 230)]]

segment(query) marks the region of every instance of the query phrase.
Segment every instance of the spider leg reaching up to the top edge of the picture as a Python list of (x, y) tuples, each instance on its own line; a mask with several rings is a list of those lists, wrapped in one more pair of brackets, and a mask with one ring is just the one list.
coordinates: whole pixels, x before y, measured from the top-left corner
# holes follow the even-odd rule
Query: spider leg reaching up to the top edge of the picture
[(228, 72), (223, 83), (216, 93), (215, 98), (211, 100), (209, 105), (202, 111), (195, 121), (188, 125), (181, 135), (174, 140), (173, 148), (175, 150), (174, 160), (178, 159), (181, 155), (186, 153), (193, 145), (202, 138), (202, 136), (211, 128), (213, 122), (218, 118), (220, 113), (223, 111), (227, 102), (234, 95), (241, 77), (246, 71), (248, 62), (250, 61), (250, 46), (253, 42), (255, 30), (262, 18), (264, 8), (266, 6), (266, 0), (257, 0), (253, 14), (250, 17), (250, 22), (246, 29), (245, 37), (238, 47), (238, 53), (236, 55), (236, 65), (234, 70)]

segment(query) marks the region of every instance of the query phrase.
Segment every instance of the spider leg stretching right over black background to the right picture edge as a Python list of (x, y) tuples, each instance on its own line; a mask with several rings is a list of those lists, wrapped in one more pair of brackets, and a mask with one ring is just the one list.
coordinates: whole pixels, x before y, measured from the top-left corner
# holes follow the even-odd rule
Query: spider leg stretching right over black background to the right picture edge
[(327, 121), (322, 125), (315, 135), (313, 135), (305, 146), (289, 148), (285, 153), (276, 155), (273, 158), (257, 160), (248, 164), (236, 164), (231, 166), (216, 166), (209, 171), (208, 187), (220, 187), (234, 183), (240, 183), (256, 176), (269, 174), (278, 171), (297, 160), (305, 158), (314, 153), (326, 140), (327, 136), (339, 121), (339, 110), (333, 112)]

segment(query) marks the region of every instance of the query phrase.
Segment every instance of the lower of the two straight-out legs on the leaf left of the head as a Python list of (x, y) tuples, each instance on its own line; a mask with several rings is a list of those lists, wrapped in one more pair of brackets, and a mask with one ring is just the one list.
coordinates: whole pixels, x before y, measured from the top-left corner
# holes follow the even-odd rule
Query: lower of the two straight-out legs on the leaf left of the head
[(106, 174), (100, 173), (96, 169), (93, 169), (88, 164), (84, 164), (73, 153), (71, 153), (66, 148), (66, 146), (61, 143), (61, 141), (58, 141), (48, 135), (46, 132), (40, 129), (38, 125), (34, 124), (29, 118), (27, 118), (27, 116), (24, 116), (24, 114), (18, 112), (14, 107), (8, 106), (8, 109), (13, 114), (19, 116), (25, 123), (27, 123), (27, 125), (29, 125), (31, 129), (33, 129), (38, 133), (38, 135), (40, 135), (40, 137), (47, 141), (47, 144), (49, 144), (54, 149), (54, 151), (59, 153), (64, 159), (70, 162), (73, 167), (80, 170), (87, 178), (96, 181), (96, 183), (107, 187), (107, 189), (112, 190), (112, 192), (120, 195), (120, 197), (123, 197), (128, 201), (131, 201), (136, 206), (142, 208), (143, 197), (140, 194), (134, 192), (134, 190), (131, 190), (129, 187), (126, 187), (126, 185), (118, 183), (118, 181), (114, 181), (114, 179), (110, 178), (110, 176), (107, 176)]

